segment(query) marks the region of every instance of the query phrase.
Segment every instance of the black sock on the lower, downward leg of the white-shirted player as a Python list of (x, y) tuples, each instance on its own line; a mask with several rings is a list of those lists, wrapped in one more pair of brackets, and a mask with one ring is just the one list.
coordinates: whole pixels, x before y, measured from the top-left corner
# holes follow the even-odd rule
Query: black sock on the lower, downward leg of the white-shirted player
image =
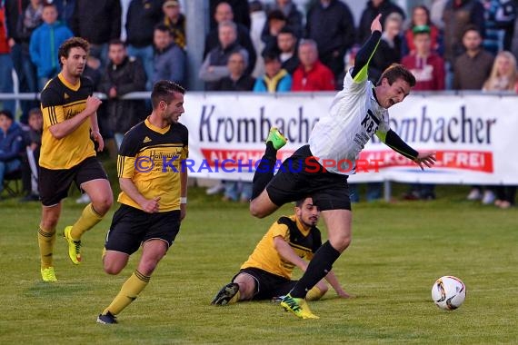
[(331, 243), (325, 242), (314, 253), (312, 261), (304, 272), (302, 278), (297, 281), (290, 295), (295, 298), (304, 298), (318, 281), (321, 281), (333, 267), (334, 261), (340, 257), (340, 251), (333, 248)]

